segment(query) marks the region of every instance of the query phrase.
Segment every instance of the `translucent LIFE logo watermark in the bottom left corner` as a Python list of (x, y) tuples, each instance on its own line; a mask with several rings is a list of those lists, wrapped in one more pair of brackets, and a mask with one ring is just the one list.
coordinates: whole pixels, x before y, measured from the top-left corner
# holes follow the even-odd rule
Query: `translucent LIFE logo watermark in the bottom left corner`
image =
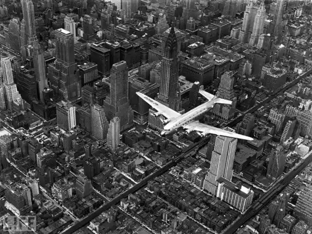
[(29, 232), (36, 230), (36, 216), (7, 216), (2, 219), (3, 231)]

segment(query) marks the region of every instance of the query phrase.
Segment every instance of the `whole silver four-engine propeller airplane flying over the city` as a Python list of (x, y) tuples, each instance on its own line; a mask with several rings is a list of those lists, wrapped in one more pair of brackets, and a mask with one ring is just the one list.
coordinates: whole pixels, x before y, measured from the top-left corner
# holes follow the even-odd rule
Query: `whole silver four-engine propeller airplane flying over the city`
[(217, 95), (212, 95), (206, 91), (204, 91), (203, 86), (200, 87), (198, 91), (202, 96), (208, 99), (207, 102), (195, 107), (194, 109), (190, 110), (189, 112), (181, 115), (180, 113), (172, 110), (171, 108), (161, 104), (160, 102), (140, 93), (137, 92), (137, 95), (150, 104), (154, 109), (156, 109), (156, 113), (154, 114), (155, 117), (162, 115), (166, 119), (163, 120), (164, 130), (161, 131), (161, 136), (166, 136), (175, 133), (179, 128), (183, 128), (187, 134), (195, 131), (201, 137), (205, 137), (208, 134), (213, 134), (217, 136), (224, 136), (224, 137), (232, 137), (244, 140), (254, 140), (252, 137), (247, 137), (244, 135), (240, 135), (237, 133), (229, 132), (223, 129), (219, 129), (204, 123), (200, 123), (195, 118), (199, 117), (200, 115), (204, 114), (208, 110), (214, 107), (215, 103), (227, 104), (231, 105), (232, 101), (218, 98)]

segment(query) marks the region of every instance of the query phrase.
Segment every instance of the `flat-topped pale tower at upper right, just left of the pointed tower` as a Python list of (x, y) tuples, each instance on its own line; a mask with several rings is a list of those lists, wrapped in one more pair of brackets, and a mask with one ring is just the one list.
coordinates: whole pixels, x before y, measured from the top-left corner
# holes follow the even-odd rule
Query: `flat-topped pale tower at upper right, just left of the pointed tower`
[(254, 27), (254, 19), (258, 11), (258, 6), (254, 2), (249, 2), (244, 13), (243, 25), (239, 32), (239, 40), (242, 43), (247, 43), (250, 39)]

